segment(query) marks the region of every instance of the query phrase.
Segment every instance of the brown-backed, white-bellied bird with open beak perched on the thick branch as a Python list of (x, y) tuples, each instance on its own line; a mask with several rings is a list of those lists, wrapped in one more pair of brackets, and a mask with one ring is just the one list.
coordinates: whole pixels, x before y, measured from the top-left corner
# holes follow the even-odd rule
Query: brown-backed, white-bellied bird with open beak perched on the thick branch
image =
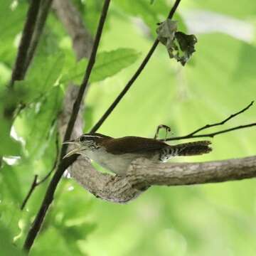
[(75, 145), (75, 149), (63, 158), (80, 154), (118, 176), (126, 176), (135, 159), (145, 158), (159, 163), (174, 156), (195, 156), (212, 150), (209, 141), (169, 145), (158, 139), (135, 136), (113, 138), (100, 133), (82, 134), (77, 139), (63, 143)]

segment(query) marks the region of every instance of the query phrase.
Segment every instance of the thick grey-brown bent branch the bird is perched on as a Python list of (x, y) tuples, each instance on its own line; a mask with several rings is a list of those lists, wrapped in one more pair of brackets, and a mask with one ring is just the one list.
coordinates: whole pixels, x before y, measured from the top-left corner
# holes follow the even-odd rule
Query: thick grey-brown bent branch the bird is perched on
[(177, 186), (236, 181), (256, 177), (256, 156), (202, 163), (154, 164), (137, 159), (127, 176), (102, 174), (80, 158), (73, 164), (71, 176), (97, 198), (114, 203), (127, 203), (150, 186)]

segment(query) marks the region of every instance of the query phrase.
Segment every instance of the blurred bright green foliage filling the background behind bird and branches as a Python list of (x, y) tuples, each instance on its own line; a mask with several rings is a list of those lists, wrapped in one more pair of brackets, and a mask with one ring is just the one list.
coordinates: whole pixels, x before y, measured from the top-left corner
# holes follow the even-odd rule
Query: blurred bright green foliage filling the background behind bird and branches
[[(2, 255), (22, 255), (19, 249), (48, 182), (36, 188), (25, 210), (19, 207), (33, 176), (42, 177), (53, 166), (56, 120), (68, 80), (82, 80), (87, 60), (75, 63), (70, 38), (50, 14), (26, 80), (16, 82), (11, 93), (6, 90), (28, 8), (27, 1), (18, 1), (17, 6), (11, 2), (16, 3), (5, 0), (0, 6), (0, 155), (5, 156), (0, 169), (0, 247)], [(102, 1), (74, 3), (94, 34)], [(85, 132), (134, 73), (156, 37), (156, 23), (170, 8), (164, 0), (112, 1), (85, 100)], [(248, 21), (255, 19), (255, 8), (253, 0), (242, 4), (183, 0), (174, 19), (184, 32), (183, 9)], [(175, 135), (183, 135), (225, 119), (255, 100), (254, 44), (220, 33), (197, 37), (196, 53), (185, 68), (159, 46), (99, 132), (153, 137), (158, 124), (167, 124)], [(14, 123), (4, 112), (6, 106), (19, 107)], [(255, 107), (226, 127), (249, 122), (255, 122)], [(211, 154), (176, 161), (249, 156), (255, 154), (255, 139), (253, 128), (223, 134), (213, 139)], [(18, 160), (11, 164), (14, 156)], [(154, 187), (120, 206), (94, 198), (75, 181), (63, 178), (31, 255), (255, 255), (255, 198), (251, 179)]]

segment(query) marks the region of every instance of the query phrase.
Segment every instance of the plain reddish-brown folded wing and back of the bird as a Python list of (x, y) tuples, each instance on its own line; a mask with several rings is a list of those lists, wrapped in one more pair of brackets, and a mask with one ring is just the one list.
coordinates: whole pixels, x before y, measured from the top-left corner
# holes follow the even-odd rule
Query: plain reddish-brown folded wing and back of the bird
[(107, 151), (112, 154), (141, 153), (144, 151), (153, 151), (167, 146), (164, 142), (156, 139), (147, 139), (143, 137), (122, 137), (118, 139), (107, 140)]

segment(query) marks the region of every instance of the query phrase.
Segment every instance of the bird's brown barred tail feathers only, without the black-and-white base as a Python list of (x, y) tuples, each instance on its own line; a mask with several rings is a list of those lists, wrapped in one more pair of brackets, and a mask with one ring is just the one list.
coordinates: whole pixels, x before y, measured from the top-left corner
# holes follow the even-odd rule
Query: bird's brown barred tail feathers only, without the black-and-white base
[(172, 149), (178, 149), (177, 155), (178, 156), (194, 156), (200, 154), (206, 154), (212, 151), (210, 146), (211, 144), (209, 141), (201, 141), (201, 142), (188, 142), (183, 144), (178, 144), (176, 146), (171, 146)]

